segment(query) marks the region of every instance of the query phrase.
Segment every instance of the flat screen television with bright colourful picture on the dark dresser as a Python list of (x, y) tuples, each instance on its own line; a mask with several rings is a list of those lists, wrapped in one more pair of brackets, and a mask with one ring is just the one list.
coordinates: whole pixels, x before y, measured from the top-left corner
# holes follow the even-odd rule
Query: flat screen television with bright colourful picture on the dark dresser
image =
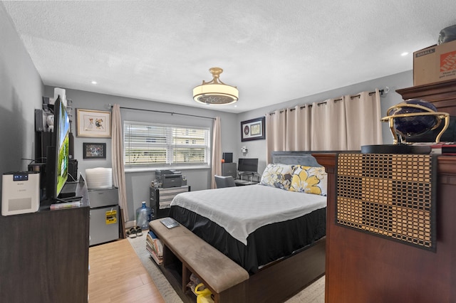
[(53, 114), (51, 145), (46, 149), (46, 198), (58, 201), (58, 195), (68, 179), (70, 149), (70, 119), (60, 97), (54, 104)]

